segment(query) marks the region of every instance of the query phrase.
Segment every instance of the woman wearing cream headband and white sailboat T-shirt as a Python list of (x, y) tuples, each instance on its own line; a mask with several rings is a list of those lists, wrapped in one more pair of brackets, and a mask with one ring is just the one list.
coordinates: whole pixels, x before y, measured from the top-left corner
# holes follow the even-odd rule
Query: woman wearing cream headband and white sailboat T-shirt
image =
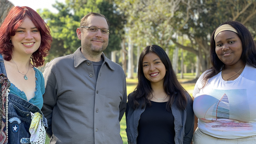
[(211, 36), (212, 67), (193, 91), (194, 144), (256, 143), (256, 45), (249, 30), (228, 21)]

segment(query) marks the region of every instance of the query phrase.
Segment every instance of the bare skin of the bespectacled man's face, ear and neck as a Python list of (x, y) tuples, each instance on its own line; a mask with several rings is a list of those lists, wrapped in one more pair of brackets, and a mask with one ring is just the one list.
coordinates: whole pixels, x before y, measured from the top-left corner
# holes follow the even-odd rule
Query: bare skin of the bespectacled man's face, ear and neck
[(108, 35), (102, 35), (102, 28), (107, 28), (107, 21), (104, 17), (90, 15), (87, 18), (88, 25), (86, 27), (96, 26), (98, 31), (91, 33), (88, 28), (77, 28), (76, 33), (78, 39), (81, 40), (82, 54), (89, 61), (101, 61), (102, 51), (106, 49), (108, 45)]

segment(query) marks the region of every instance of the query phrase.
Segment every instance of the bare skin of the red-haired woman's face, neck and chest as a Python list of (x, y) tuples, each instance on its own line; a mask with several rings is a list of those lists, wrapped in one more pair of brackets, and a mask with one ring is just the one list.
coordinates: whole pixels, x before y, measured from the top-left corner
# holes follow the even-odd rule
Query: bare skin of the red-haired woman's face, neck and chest
[[(14, 46), (12, 49), (12, 60), (4, 60), (6, 73), (10, 82), (21, 91), (24, 91), (29, 101), (35, 96), (34, 92), (36, 91), (35, 71), (30, 64), (30, 57), (39, 48), (41, 35), (28, 17), (24, 19), (15, 31), (15, 35), (11, 36), (11, 43)], [(27, 71), (28, 73), (26, 74)], [(24, 75), (21, 73), (26, 74), (28, 79), (25, 80)]]

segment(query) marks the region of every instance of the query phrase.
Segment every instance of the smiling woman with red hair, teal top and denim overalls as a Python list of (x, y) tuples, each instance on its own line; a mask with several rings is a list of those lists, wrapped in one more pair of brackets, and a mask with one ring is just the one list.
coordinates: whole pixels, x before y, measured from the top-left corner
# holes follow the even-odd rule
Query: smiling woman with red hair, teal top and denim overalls
[(0, 27), (0, 143), (44, 143), (42, 66), (50, 29), (30, 7), (13, 7)]

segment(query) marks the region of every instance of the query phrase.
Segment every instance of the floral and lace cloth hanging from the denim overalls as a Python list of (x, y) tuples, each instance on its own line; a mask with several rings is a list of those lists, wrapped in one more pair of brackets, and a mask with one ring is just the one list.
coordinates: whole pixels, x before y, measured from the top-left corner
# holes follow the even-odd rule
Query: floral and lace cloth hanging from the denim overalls
[(43, 124), (43, 115), (39, 112), (31, 113), (31, 125), (29, 132), (31, 134), (30, 143), (31, 144), (45, 144), (45, 127)]

